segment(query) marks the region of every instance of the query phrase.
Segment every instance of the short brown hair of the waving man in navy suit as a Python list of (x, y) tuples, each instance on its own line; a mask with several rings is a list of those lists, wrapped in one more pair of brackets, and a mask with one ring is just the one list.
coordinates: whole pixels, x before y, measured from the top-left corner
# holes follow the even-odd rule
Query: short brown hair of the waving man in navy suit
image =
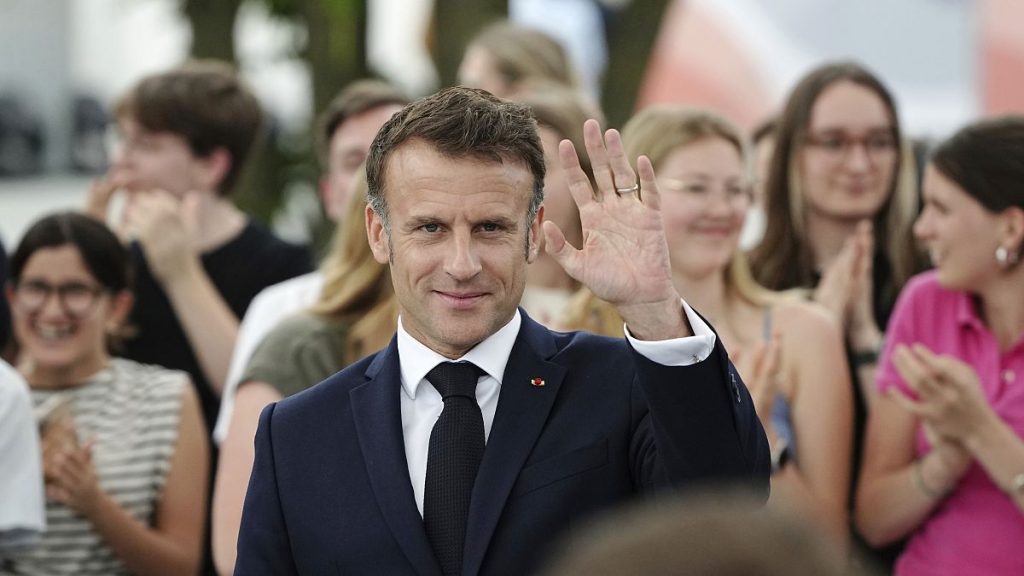
[(485, 90), (445, 88), (401, 109), (384, 123), (367, 157), (367, 200), (390, 230), (384, 174), (391, 154), (409, 140), (423, 140), (449, 158), (521, 162), (534, 175), (526, 217), (544, 201), (544, 148), (529, 108)]

